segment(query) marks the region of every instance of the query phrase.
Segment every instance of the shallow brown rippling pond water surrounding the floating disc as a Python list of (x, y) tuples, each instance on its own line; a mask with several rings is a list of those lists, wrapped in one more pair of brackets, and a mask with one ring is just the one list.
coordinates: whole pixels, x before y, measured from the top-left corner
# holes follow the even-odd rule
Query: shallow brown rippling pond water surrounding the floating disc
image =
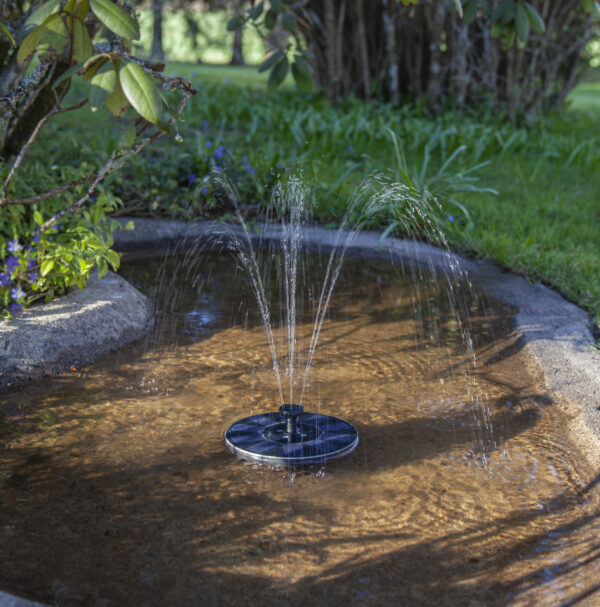
[(597, 604), (597, 478), (510, 310), (348, 262), (305, 408), (361, 443), (291, 473), (223, 445), (278, 403), (243, 273), (217, 257), (123, 273), (157, 301), (145, 339), (2, 393), (0, 589), (59, 605)]

